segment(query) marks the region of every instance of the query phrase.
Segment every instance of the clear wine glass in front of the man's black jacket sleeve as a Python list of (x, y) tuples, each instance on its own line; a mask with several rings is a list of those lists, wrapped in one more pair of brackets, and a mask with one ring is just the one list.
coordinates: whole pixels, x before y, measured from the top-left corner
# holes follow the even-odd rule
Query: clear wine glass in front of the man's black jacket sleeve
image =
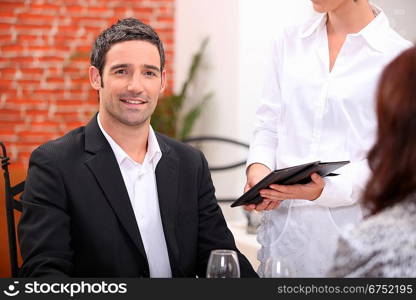
[(234, 250), (212, 250), (208, 260), (207, 278), (240, 278), (240, 265)]

